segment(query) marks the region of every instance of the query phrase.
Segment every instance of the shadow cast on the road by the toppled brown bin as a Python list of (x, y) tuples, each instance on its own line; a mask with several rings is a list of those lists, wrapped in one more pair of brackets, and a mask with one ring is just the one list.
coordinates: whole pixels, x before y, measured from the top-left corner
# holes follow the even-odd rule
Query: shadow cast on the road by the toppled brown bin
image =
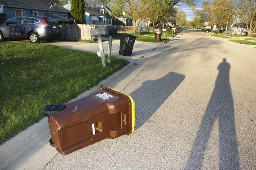
[(136, 129), (148, 121), (184, 78), (182, 74), (169, 72), (160, 79), (143, 82), (130, 94), (136, 103)]

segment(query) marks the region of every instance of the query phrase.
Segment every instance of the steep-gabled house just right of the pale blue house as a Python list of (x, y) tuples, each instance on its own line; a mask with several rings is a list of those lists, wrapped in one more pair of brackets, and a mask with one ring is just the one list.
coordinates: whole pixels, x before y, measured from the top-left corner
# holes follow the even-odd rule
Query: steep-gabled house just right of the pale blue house
[[(101, 5), (96, 8), (99, 12), (102, 14), (105, 14), (108, 16), (108, 21), (106, 25), (112, 25), (112, 26), (131, 26), (132, 20), (130, 19), (130, 22), (128, 22), (128, 18), (125, 17), (116, 17), (112, 12), (111, 9), (108, 8), (108, 6)], [(127, 25), (126, 25), (127, 24)]]

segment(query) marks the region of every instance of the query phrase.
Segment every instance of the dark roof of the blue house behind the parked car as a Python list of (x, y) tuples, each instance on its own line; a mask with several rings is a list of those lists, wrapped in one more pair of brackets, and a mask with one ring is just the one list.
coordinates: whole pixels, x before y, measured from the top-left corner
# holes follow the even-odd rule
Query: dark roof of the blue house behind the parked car
[(55, 11), (55, 12), (64, 12), (70, 13), (69, 10), (63, 8), (61, 5), (53, 6), (51, 9), (51, 1), (50, 0), (0, 0), (0, 4), (4, 6), (10, 7), (20, 7), (20, 8), (27, 8), (27, 9), (36, 9), (42, 11)]

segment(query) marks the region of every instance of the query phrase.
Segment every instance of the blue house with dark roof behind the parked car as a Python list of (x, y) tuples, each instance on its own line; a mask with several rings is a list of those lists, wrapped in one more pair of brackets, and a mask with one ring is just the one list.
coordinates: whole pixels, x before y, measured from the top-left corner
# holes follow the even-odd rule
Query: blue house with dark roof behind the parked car
[(6, 15), (6, 20), (17, 16), (44, 16), (57, 14), (70, 17), (70, 11), (56, 4), (51, 9), (50, 0), (0, 0), (0, 13)]

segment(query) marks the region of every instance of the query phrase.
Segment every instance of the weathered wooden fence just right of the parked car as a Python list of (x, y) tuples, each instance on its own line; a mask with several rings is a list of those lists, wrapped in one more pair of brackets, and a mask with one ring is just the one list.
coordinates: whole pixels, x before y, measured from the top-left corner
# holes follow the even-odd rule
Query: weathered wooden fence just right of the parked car
[(62, 24), (60, 27), (62, 40), (93, 40), (90, 36), (90, 30), (95, 29), (94, 25), (85, 24)]

